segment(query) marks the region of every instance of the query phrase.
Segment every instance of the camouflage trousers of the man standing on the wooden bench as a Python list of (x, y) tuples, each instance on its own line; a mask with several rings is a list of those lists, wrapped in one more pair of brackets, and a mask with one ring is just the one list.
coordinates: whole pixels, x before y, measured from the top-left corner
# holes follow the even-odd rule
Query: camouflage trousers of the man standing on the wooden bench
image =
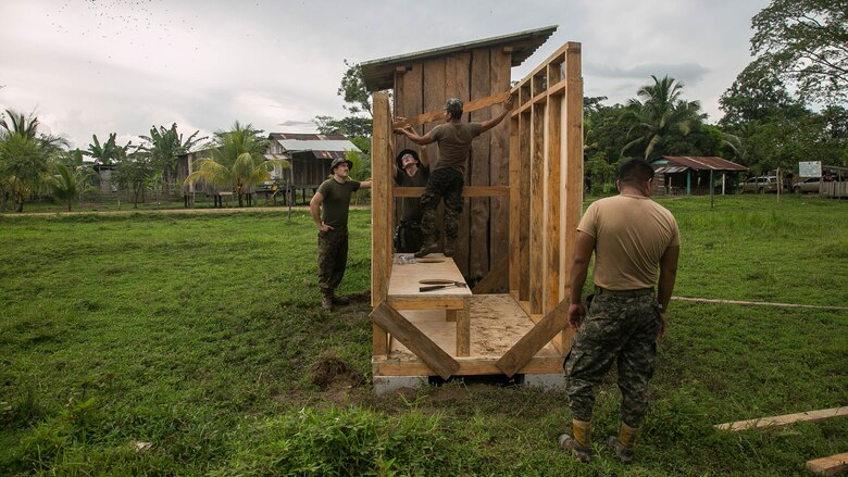
[(454, 239), (459, 235), (459, 217), (462, 215), (463, 177), (459, 171), (450, 167), (433, 172), (427, 188), (421, 196), (421, 230), (424, 241), (434, 243), (438, 237), (436, 228), (436, 208), (445, 199), (445, 235)]

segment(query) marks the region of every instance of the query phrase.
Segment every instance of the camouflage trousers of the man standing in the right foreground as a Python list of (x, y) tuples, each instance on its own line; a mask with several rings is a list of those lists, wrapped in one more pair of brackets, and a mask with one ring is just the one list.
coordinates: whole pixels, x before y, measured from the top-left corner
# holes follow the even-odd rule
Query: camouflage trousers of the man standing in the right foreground
[(639, 427), (648, 409), (648, 381), (657, 363), (660, 305), (652, 292), (596, 294), (565, 357), (565, 391), (572, 415), (591, 420), (594, 387), (618, 363), (621, 419)]

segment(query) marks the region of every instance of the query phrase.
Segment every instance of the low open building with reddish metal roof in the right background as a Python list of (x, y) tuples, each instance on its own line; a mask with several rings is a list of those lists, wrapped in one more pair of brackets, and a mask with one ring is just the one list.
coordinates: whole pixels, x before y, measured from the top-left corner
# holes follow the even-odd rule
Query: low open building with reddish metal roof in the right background
[(714, 155), (663, 155), (651, 165), (657, 174), (653, 191), (660, 194), (708, 194), (715, 173), (722, 175), (719, 187), (724, 194), (738, 184), (739, 173), (748, 171), (744, 165)]

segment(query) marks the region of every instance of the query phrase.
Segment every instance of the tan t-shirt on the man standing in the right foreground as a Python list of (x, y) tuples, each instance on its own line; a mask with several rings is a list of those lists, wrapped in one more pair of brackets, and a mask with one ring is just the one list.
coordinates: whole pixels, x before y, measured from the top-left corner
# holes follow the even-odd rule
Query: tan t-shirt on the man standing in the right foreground
[(595, 237), (595, 285), (636, 290), (657, 283), (660, 258), (679, 246), (677, 221), (665, 208), (641, 196), (615, 196), (593, 202), (577, 230)]

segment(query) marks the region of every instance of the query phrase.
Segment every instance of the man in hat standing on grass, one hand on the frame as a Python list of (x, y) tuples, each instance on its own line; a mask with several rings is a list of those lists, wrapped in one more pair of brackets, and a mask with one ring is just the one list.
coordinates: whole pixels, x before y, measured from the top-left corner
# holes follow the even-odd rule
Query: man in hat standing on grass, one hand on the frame
[(348, 264), (350, 196), (359, 189), (371, 187), (370, 181), (359, 183), (348, 177), (352, 166), (353, 163), (347, 159), (334, 160), (329, 166), (333, 176), (319, 186), (309, 202), (312, 219), (319, 229), (321, 307), (327, 311), (333, 310), (334, 304), (348, 303), (347, 298), (336, 297), (335, 291)]

